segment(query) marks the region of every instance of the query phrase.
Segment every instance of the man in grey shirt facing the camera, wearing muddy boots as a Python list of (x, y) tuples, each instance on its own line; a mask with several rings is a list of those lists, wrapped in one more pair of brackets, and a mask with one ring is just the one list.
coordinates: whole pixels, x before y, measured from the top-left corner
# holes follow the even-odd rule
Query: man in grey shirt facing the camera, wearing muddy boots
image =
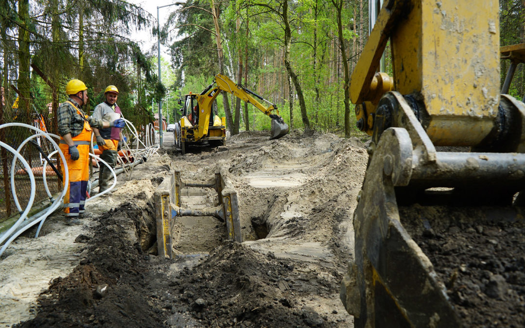
[[(117, 105), (119, 89), (115, 86), (108, 86), (104, 90), (104, 102), (101, 102), (93, 110), (93, 117), (99, 120), (116, 120), (121, 118), (121, 111)], [(108, 129), (93, 129), (97, 137), (97, 145), (102, 151), (100, 158), (106, 161), (112, 168), (117, 165), (118, 145), (122, 140), (120, 128), (113, 127)], [(101, 163), (99, 165), (99, 193), (105, 191), (110, 186), (113, 174), (109, 168)]]

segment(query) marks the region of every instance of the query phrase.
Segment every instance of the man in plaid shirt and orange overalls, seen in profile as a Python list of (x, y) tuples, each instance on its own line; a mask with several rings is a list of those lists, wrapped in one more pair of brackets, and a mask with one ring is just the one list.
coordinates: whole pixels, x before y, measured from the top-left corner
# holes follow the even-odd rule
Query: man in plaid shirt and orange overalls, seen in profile
[[(66, 157), (69, 172), (68, 191), (64, 196), (64, 211), (68, 217), (84, 213), (86, 191), (89, 179), (89, 145), (94, 128), (124, 126), (124, 121), (115, 119), (102, 121), (86, 115), (82, 105), (88, 101), (84, 82), (74, 79), (66, 84), (69, 99), (58, 108), (58, 133), (60, 150)], [(65, 177), (64, 163), (61, 163), (62, 176)], [(65, 183), (65, 181), (64, 181)]]

